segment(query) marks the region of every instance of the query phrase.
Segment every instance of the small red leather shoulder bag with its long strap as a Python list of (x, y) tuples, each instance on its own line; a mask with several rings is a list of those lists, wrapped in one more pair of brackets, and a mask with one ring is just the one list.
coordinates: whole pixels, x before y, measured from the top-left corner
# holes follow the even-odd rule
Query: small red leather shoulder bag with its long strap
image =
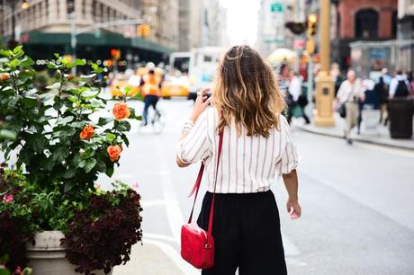
[(191, 263), (198, 269), (208, 269), (214, 265), (214, 239), (212, 233), (212, 217), (214, 214), (214, 200), (216, 194), (217, 173), (219, 172), (221, 147), (223, 144), (223, 133), (220, 133), (219, 152), (217, 155), (216, 176), (214, 180), (214, 192), (211, 200), (211, 209), (209, 217), (209, 228), (207, 231), (200, 226), (192, 223), (195, 200), (197, 200), (200, 184), (202, 183), (202, 173), (204, 172), (204, 164), (200, 167), (197, 181), (194, 184), (193, 191), (190, 196), (194, 196), (193, 208), (188, 219), (188, 223), (181, 227), (181, 256), (186, 262)]

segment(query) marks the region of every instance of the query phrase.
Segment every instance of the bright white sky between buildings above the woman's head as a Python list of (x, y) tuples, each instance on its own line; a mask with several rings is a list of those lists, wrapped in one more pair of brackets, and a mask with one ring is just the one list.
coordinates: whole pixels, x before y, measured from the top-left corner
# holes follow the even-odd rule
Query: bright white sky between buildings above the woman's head
[(220, 0), (227, 8), (227, 33), (231, 45), (254, 45), (257, 38), (257, 15), (260, 0)]

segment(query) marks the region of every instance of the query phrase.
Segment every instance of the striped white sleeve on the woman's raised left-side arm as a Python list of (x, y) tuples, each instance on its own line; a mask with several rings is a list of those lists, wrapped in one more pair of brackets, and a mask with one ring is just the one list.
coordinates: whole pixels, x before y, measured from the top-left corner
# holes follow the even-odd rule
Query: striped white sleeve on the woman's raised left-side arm
[(193, 164), (211, 155), (211, 140), (208, 137), (208, 111), (203, 111), (195, 121), (193, 129), (176, 146), (176, 155), (184, 163)]

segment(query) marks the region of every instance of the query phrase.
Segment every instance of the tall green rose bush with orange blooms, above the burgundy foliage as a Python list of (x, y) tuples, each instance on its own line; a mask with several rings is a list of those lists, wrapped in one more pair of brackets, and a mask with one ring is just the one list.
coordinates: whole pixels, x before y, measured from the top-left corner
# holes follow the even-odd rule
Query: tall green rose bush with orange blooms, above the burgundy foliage
[(74, 77), (70, 70), (85, 66), (85, 61), (56, 55), (48, 67), (58, 82), (47, 87), (50, 93), (38, 94), (33, 62), (23, 49), (0, 50), (0, 55), (8, 60), (0, 66), (0, 75), (6, 75), (0, 81), (0, 118), (13, 125), (16, 135), (0, 148), (6, 156), (18, 151), (17, 164), (26, 167), (28, 180), (44, 188), (58, 182), (62, 193), (79, 197), (94, 189), (99, 173), (111, 176), (121, 145), (129, 145), (130, 123), (125, 119), (137, 117), (127, 102), (120, 102), (113, 107), (113, 117), (91, 119), (106, 106), (100, 97), (103, 77), (98, 77), (106, 69), (93, 64), (90, 75)]

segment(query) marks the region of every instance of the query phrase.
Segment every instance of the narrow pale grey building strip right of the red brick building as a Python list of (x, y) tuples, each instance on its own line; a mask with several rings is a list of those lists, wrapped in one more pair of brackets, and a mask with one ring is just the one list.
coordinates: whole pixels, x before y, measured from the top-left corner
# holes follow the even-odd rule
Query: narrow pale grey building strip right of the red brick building
[(414, 69), (414, 0), (399, 0), (398, 6), (398, 70)]

